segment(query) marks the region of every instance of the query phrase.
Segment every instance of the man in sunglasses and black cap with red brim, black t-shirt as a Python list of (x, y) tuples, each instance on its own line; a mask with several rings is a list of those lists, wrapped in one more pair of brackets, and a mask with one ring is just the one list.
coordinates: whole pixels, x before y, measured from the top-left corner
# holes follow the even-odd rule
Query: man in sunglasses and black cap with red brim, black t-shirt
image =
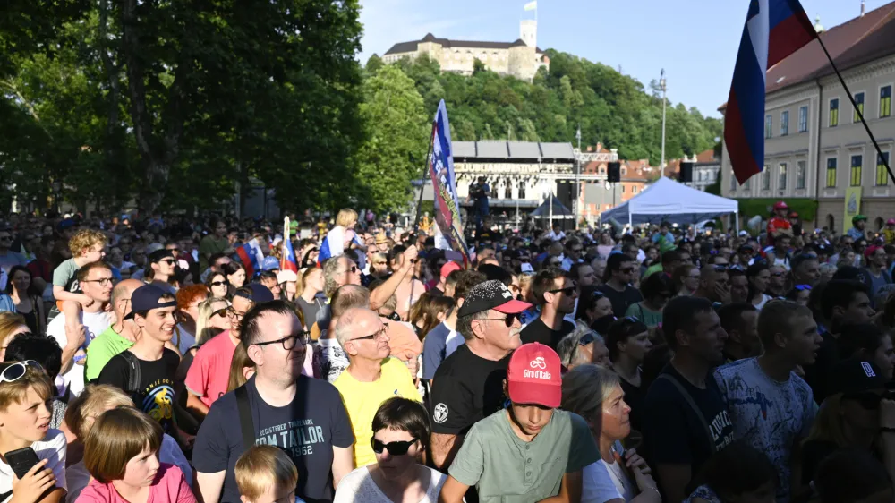
[(503, 381), (510, 354), (522, 344), (519, 313), (532, 304), (515, 300), (497, 280), (473, 286), (457, 312), (465, 339), (439, 365), (432, 381), (432, 461), (447, 469), (466, 431), (507, 401)]

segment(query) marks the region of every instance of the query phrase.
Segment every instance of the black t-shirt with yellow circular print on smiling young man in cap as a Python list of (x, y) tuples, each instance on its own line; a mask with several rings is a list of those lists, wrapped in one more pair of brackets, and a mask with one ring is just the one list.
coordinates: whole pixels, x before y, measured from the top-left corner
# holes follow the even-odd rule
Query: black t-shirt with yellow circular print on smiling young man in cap
[[(180, 357), (165, 348), (162, 357), (154, 362), (137, 359), (140, 364), (140, 384), (132, 395), (133, 403), (149, 417), (161, 423), (165, 432), (173, 435), (175, 376)], [(98, 384), (110, 384), (125, 392), (131, 376), (131, 365), (121, 354), (115, 354), (99, 373)]]

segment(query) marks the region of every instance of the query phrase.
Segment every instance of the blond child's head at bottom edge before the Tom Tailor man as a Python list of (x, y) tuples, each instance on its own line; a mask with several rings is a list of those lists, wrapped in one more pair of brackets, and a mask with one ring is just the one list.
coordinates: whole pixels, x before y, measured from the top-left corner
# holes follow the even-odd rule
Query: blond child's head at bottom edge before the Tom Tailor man
[(298, 470), (279, 448), (254, 446), (243, 452), (234, 474), (243, 503), (304, 503), (295, 495)]

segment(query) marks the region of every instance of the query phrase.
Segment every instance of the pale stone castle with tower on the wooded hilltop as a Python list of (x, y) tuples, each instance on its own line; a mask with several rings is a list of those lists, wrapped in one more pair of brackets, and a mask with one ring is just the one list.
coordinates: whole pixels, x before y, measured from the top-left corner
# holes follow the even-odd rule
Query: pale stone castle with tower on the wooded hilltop
[(426, 54), (439, 62), (442, 72), (472, 75), (473, 63), (478, 59), (492, 72), (532, 81), (541, 66), (550, 68), (550, 57), (537, 46), (537, 38), (538, 21), (534, 20), (521, 21), (515, 42), (448, 40), (428, 33), (422, 40), (395, 44), (382, 61), (392, 64), (401, 58)]

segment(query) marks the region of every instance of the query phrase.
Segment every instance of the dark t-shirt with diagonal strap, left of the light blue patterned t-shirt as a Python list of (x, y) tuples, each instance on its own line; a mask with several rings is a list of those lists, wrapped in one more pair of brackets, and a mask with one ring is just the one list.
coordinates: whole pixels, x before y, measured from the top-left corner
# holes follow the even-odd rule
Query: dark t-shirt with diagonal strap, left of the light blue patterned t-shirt
[[(662, 376), (669, 376), (686, 390), (702, 419), (681, 396), (678, 387)], [(652, 466), (689, 464), (691, 473), (699, 473), (712, 456), (712, 450), (719, 451), (734, 440), (733, 423), (711, 372), (705, 377), (705, 388), (701, 389), (684, 379), (673, 365), (666, 365), (646, 393), (642, 419)], [(705, 430), (705, 424), (709, 431)]]

